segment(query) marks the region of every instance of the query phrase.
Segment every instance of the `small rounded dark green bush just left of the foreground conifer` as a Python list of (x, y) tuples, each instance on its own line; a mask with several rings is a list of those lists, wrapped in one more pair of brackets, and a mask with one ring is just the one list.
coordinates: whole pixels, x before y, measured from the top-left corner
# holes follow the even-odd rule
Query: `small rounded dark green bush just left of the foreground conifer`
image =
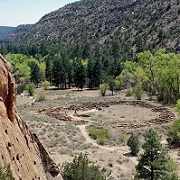
[(127, 145), (131, 149), (131, 154), (136, 156), (141, 147), (141, 143), (140, 143), (138, 135), (132, 133), (127, 141)]

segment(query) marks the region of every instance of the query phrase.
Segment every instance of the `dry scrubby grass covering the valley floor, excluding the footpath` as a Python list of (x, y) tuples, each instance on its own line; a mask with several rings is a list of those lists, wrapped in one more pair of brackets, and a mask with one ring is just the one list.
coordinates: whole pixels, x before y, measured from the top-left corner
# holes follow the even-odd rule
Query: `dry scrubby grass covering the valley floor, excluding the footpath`
[[(43, 89), (37, 89), (35, 98)], [(110, 92), (108, 92), (110, 94)], [(108, 94), (107, 93), (107, 94)], [(129, 105), (116, 105), (103, 108), (102, 111), (88, 112), (92, 125), (87, 127), (107, 128), (110, 131), (110, 138), (107, 139), (106, 145), (120, 147), (121, 151), (111, 152), (86, 143), (78, 127), (71, 122), (60, 121), (56, 118), (38, 114), (37, 110), (58, 107), (78, 105), (87, 102), (108, 102), (123, 99), (132, 99), (126, 97), (124, 92), (117, 93), (115, 96), (100, 96), (99, 91), (75, 91), (75, 90), (48, 90), (46, 91), (45, 101), (32, 103), (28, 96), (17, 97), (17, 110), (21, 117), (26, 121), (30, 129), (38, 135), (45, 148), (57, 164), (62, 165), (64, 161), (70, 161), (80, 152), (87, 152), (91, 162), (101, 168), (107, 168), (112, 171), (111, 179), (128, 180), (133, 177), (135, 164), (130, 157), (122, 154), (129, 152), (126, 145), (127, 138), (132, 131), (139, 135), (144, 134), (146, 128), (141, 129), (120, 129), (113, 128), (120, 122), (142, 122), (144, 120), (156, 118), (159, 113), (154, 113), (151, 109), (134, 107)], [(70, 112), (72, 113), (72, 112)], [(78, 114), (84, 112), (79, 111)], [(166, 133), (168, 125), (155, 126), (162, 135)]]

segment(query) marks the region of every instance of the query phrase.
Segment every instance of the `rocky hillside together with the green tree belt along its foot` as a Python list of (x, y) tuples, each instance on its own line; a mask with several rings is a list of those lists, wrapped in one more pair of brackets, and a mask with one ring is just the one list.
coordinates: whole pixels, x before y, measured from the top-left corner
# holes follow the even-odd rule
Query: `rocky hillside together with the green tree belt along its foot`
[(129, 88), (175, 103), (179, 21), (179, 0), (84, 0), (17, 27), (0, 52), (11, 52), (6, 58), (20, 88), (43, 81), (112, 94)]

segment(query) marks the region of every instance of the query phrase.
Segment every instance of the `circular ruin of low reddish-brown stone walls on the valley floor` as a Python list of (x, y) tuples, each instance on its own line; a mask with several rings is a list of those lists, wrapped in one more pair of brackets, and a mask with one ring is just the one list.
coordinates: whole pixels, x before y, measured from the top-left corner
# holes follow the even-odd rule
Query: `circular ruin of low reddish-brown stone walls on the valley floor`
[[(98, 111), (99, 113), (96, 113)], [(116, 119), (113, 128), (150, 127), (156, 124), (169, 123), (175, 119), (175, 115), (168, 108), (145, 101), (83, 103), (43, 109), (39, 110), (39, 113), (45, 113), (59, 120), (71, 121), (76, 124), (86, 124), (88, 118), (103, 120), (103, 122)], [(105, 114), (108, 118), (105, 117)]]

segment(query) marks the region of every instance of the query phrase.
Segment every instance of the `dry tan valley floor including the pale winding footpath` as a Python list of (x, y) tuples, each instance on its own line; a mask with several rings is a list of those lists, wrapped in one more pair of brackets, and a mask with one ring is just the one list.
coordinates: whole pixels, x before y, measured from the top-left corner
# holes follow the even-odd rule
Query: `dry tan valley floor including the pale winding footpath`
[[(41, 92), (44, 91), (38, 89), (35, 98)], [(71, 161), (80, 152), (86, 152), (90, 162), (112, 171), (110, 179), (129, 180), (135, 173), (137, 159), (130, 156), (130, 150), (126, 146), (126, 140), (132, 131), (142, 136), (149, 127), (152, 127), (165, 139), (169, 123), (173, 120), (172, 117), (167, 122), (163, 121), (158, 124), (151, 122), (149, 126), (137, 127), (144, 122), (147, 124), (151, 120), (157, 120), (161, 117), (162, 112), (133, 104), (99, 106), (99, 103), (109, 104), (109, 102), (134, 100), (133, 97), (125, 97), (124, 92), (119, 92), (115, 96), (110, 96), (109, 93), (105, 97), (100, 96), (99, 91), (89, 90), (51, 89), (45, 93), (46, 100), (42, 102), (33, 102), (33, 99), (27, 95), (18, 96), (17, 110), (30, 129), (38, 135), (51, 157), (61, 166), (63, 162)], [(99, 111), (94, 106), (83, 109), (82, 104), (95, 104), (96, 107), (98, 104), (102, 110)], [(157, 104), (153, 106), (159, 107)], [(61, 115), (71, 117), (73, 120), (84, 120), (86, 125), (76, 125), (74, 121), (63, 121), (63, 118), (57, 119), (38, 112), (38, 110), (54, 107), (61, 107), (59, 111)], [(76, 107), (76, 114), (75, 109), (69, 107)], [(171, 111), (168, 109), (168, 112)], [(92, 126), (110, 130), (110, 139), (103, 147), (89, 138), (88, 129)], [(174, 160), (179, 162), (177, 150), (170, 150), (170, 154)]]

